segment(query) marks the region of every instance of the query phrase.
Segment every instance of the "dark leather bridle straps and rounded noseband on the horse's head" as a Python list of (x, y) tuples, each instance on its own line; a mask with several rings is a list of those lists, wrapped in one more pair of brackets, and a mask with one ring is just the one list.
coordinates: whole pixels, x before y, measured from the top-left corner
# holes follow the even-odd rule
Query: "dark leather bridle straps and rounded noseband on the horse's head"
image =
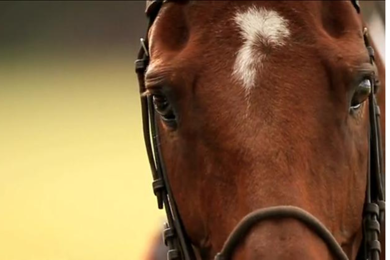
[[(146, 1), (146, 15), (149, 19), (149, 28), (154, 22), (161, 5), (166, 0)], [(360, 12), (358, 1), (351, 1), (357, 12)], [(364, 43), (367, 47), (370, 61), (374, 63), (374, 49), (369, 44), (367, 29), (363, 29)], [(164, 224), (163, 240), (168, 246), (168, 260), (194, 260), (195, 254), (191, 242), (185, 232), (176, 203), (170, 188), (165, 171), (164, 160), (160, 150), (159, 129), (157, 116), (152, 103), (152, 95), (145, 94), (145, 71), (149, 65), (149, 47), (147, 37), (141, 38), (141, 48), (135, 62), (135, 71), (141, 93), (142, 122), (145, 146), (153, 176), (153, 191), (157, 197), (158, 208), (165, 208), (167, 223)], [(379, 233), (385, 214), (385, 186), (383, 171), (383, 152), (381, 142), (380, 110), (376, 101), (378, 88), (375, 75), (371, 77), (371, 93), (369, 95), (369, 155), (367, 167), (367, 187), (365, 205), (363, 209), (362, 232), (363, 239), (360, 245), (357, 260), (379, 260), (381, 244)], [(222, 250), (217, 253), (215, 260), (229, 260), (239, 242), (249, 230), (261, 221), (267, 219), (293, 218), (304, 223), (326, 243), (333, 256), (339, 260), (348, 260), (348, 257), (338, 244), (332, 233), (313, 215), (294, 206), (275, 206), (255, 210), (246, 215), (230, 233)]]

